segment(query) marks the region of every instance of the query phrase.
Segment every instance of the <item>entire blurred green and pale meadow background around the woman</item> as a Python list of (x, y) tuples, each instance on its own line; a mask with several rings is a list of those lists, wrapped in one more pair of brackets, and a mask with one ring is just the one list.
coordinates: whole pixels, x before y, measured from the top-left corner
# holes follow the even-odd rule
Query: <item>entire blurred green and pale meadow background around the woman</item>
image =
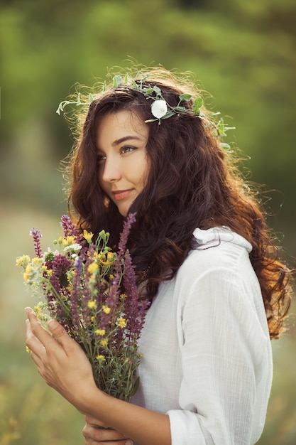
[[(72, 140), (57, 104), (75, 82), (138, 63), (195, 73), (236, 126), (270, 225), (296, 254), (295, 0), (0, 1), (0, 445), (82, 445), (83, 418), (46, 387), (25, 352), (26, 293), (15, 258), (44, 249), (65, 213), (60, 160)], [(292, 313), (295, 312), (292, 309)], [(275, 376), (261, 445), (296, 443), (295, 318), (273, 341)]]

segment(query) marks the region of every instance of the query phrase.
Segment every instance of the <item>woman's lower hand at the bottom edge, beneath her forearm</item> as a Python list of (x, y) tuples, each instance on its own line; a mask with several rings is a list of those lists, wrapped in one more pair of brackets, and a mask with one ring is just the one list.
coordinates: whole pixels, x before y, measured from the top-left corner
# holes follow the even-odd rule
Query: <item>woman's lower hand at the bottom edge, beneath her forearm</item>
[(94, 417), (85, 417), (85, 422), (86, 424), (82, 431), (85, 445), (101, 444), (103, 442), (108, 442), (108, 445), (133, 445), (133, 442), (127, 439), (126, 436), (114, 429), (109, 429), (105, 424), (94, 419)]

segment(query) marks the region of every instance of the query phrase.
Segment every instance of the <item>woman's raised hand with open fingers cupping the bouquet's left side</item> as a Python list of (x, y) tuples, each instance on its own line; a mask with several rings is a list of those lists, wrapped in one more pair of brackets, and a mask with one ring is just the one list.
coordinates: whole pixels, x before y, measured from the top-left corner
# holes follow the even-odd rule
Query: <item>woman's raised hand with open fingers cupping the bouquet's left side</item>
[(48, 322), (48, 332), (31, 308), (26, 308), (26, 313), (26, 345), (31, 350), (38, 372), (50, 387), (80, 409), (86, 392), (99, 391), (87, 356), (56, 320)]

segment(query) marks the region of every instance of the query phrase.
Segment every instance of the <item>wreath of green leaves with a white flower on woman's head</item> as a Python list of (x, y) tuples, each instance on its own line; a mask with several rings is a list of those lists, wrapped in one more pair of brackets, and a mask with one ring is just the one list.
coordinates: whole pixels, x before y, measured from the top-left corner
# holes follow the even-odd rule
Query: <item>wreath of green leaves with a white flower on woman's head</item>
[[(153, 87), (147, 87), (146, 85), (143, 85), (143, 82), (145, 82), (149, 77), (149, 74), (146, 74), (143, 79), (136, 82), (135, 80), (131, 80), (131, 85), (128, 81), (128, 75), (126, 74), (124, 77), (121, 75), (115, 75), (113, 77), (113, 87), (117, 88), (119, 86), (125, 86), (128, 88), (131, 88), (133, 90), (136, 90), (138, 92), (141, 92), (146, 99), (152, 100), (151, 103), (151, 114), (155, 119), (147, 119), (144, 121), (146, 124), (149, 122), (155, 122), (158, 121), (158, 124), (162, 122), (164, 119), (169, 119), (173, 115), (180, 116), (180, 114), (193, 114), (195, 117), (199, 117), (199, 119), (206, 119), (209, 123), (209, 126), (212, 127), (213, 134), (216, 137), (224, 137), (226, 136), (226, 132), (231, 129), (235, 129), (235, 127), (226, 127), (224, 124), (224, 119), (220, 118), (218, 122), (214, 122), (214, 120), (209, 120), (209, 117), (206, 117), (205, 114), (201, 112), (201, 108), (203, 105), (202, 97), (197, 97), (192, 102), (192, 108), (187, 108), (181, 105), (181, 102), (183, 101), (192, 101), (192, 95), (189, 93), (184, 93), (179, 96), (179, 102), (177, 106), (172, 107), (172, 105), (168, 104), (166, 100), (163, 98), (162, 92), (160, 90), (160, 87), (157, 85), (154, 85)], [(104, 81), (102, 93), (106, 91), (106, 81)], [(95, 100), (94, 95), (92, 93), (89, 93), (88, 100), (86, 102), (82, 102), (82, 96), (80, 92), (77, 92), (77, 100), (63, 100), (60, 102), (59, 106), (57, 107), (57, 114), (60, 115), (61, 112), (64, 112), (65, 107), (68, 104), (75, 104), (77, 106), (80, 105), (90, 105)], [(219, 112), (212, 113), (212, 116), (216, 116), (217, 114), (220, 114)], [(224, 146), (225, 149), (229, 149), (229, 144), (221, 143), (222, 146)]]

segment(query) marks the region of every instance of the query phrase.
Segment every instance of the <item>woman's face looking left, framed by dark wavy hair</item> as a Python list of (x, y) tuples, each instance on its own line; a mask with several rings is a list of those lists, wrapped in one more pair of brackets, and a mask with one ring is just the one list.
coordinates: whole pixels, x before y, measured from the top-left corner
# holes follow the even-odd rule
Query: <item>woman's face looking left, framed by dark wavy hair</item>
[(107, 114), (97, 128), (99, 183), (121, 215), (146, 186), (148, 177), (147, 124), (128, 111)]

